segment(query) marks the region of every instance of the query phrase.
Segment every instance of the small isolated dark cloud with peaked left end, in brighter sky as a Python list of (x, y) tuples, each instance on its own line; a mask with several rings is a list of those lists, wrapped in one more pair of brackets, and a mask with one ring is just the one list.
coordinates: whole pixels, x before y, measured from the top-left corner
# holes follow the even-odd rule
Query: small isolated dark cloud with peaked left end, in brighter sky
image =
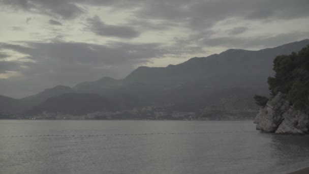
[(134, 28), (122, 25), (108, 25), (101, 21), (99, 16), (87, 18), (86, 30), (100, 36), (119, 37), (119, 38), (135, 38), (140, 33)]

